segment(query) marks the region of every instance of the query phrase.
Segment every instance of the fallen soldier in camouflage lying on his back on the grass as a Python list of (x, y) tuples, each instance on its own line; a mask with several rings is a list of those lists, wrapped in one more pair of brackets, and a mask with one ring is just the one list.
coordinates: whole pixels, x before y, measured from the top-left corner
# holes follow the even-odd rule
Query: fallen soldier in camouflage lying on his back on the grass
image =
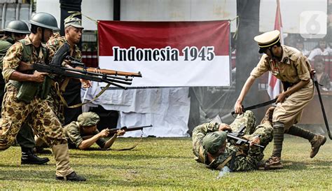
[[(241, 125), (247, 128), (244, 131), (245, 138), (252, 143), (267, 146), (272, 141), (272, 113), (274, 108), (269, 108), (261, 125), (254, 127), (256, 118), (254, 113), (246, 111), (243, 115), (237, 115), (230, 125), (210, 122), (195, 127), (193, 130), (193, 153), (197, 162), (207, 164), (211, 169), (221, 170), (227, 166), (233, 171), (249, 171), (258, 169), (258, 162), (263, 159), (263, 149), (257, 146), (239, 147), (233, 142), (226, 143), (225, 129), (237, 131)], [(233, 153), (235, 158), (232, 159)], [(234, 165), (230, 167), (233, 160)]]

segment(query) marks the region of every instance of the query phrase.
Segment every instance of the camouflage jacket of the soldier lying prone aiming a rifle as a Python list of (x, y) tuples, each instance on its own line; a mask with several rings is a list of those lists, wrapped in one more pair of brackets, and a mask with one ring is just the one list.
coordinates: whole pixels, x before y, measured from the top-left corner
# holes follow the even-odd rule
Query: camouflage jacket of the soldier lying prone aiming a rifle
[[(76, 121), (73, 121), (73, 122), (69, 123), (68, 125), (64, 126), (63, 131), (64, 131), (64, 137), (67, 139), (70, 148), (73, 148), (73, 147), (78, 148), (78, 146), (80, 146), (81, 143), (83, 142), (83, 136), (99, 134), (98, 130), (93, 132), (93, 134), (83, 134), (83, 132), (81, 132), (81, 127), (79, 126), (78, 122), (76, 122)], [(99, 138), (96, 141), (96, 143), (100, 148), (104, 148), (106, 139)]]

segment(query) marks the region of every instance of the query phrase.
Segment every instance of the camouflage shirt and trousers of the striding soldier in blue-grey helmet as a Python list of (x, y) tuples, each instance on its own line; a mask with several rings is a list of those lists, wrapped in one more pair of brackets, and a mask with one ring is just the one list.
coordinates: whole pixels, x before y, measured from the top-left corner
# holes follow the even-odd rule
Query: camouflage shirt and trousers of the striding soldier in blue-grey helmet
[[(32, 46), (29, 36), (25, 37), (25, 45)], [(53, 51), (49, 51), (50, 57), (48, 57), (48, 59), (51, 59)], [(11, 73), (13, 73), (20, 65), (22, 52), (23, 45), (20, 42), (15, 43), (8, 49), (6, 57), (4, 57), (2, 72), (5, 80), (9, 80)], [(43, 51), (40, 49), (39, 52), (37, 52), (37, 50), (32, 46), (32, 55), (29, 63), (33, 64), (34, 62), (44, 62), (45, 59)], [(15, 136), (18, 134), (20, 127), (23, 122), (27, 120), (29, 115), (32, 118), (32, 127), (34, 128), (36, 134), (41, 136), (49, 146), (67, 143), (67, 140), (64, 139), (62, 133), (62, 125), (45, 100), (42, 100), (39, 97), (34, 97), (29, 104), (25, 104), (25, 102), (18, 101), (16, 99), (17, 94), (17, 88), (11, 83), (7, 83), (3, 101), (4, 108), (2, 108), (1, 111), (1, 127), (3, 130), (3, 134), (0, 136), (1, 150), (11, 146), (11, 143), (15, 140)]]

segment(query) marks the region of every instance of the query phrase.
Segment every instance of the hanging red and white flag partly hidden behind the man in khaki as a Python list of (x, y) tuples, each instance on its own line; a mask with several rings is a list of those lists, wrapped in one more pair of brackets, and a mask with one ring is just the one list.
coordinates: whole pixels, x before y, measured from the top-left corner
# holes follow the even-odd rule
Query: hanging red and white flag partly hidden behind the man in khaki
[[(275, 30), (280, 31), (280, 43), (284, 44), (284, 37), (282, 35), (282, 14), (280, 13), (280, 3), (277, 0), (277, 11), (275, 13)], [(280, 93), (280, 80), (273, 76), (271, 73), (268, 74), (268, 95), (270, 99), (275, 99)]]

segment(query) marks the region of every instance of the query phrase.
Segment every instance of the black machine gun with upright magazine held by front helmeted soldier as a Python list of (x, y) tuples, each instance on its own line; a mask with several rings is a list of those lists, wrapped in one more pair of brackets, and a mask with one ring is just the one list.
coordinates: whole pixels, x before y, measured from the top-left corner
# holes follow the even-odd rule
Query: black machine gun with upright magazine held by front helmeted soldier
[(127, 87), (124, 87), (120, 84), (125, 85), (131, 85), (132, 76), (126, 76), (126, 77), (119, 77), (115, 75), (109, 75), (106, 73), (96, 73), (92, 71), (87, 71), (85, 69), (69, 69), (67, 67), (62, 66), (62, 62), (64, 61), (64, 58), (67, 57), (69, 53), (70, 47), (68, 43), (64, 43), (57, 52), (55, 52), (55, 55), (50, 62), (49, 65), (41, 64), (41, 63), (35, 63), (33, 64), (32, 68), (36, 71), (40, 72), (46, 72), (46, 73), (52, 73), (58, 76), (66, 76), (71, 78), (81, 78), (85, 80), (92, 80), (96, 82), (104, 82), (109, 83), (110, 85), (114, 85), (116, 87), (120, 87), (123, 89), (127, 89)]

